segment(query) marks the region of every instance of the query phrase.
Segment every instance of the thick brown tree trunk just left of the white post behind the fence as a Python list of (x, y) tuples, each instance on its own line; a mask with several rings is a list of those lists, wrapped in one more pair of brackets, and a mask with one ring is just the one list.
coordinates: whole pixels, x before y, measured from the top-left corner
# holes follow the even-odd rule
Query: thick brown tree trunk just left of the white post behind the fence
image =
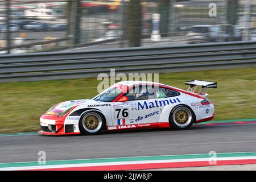
[(141, 46), (141, 1), (130, 0), (127, 6), (127, 39), (129, 47)]

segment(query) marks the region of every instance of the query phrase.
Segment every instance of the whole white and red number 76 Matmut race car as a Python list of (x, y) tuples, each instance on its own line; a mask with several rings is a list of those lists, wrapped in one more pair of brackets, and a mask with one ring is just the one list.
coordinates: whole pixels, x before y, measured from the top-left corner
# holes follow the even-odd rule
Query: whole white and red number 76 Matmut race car
[[(40, 134), (96, 134), (152, 127), (188, 129), (214, 117), (207, 89), (217, 82), (192, 80), (187, 91), (148, 81), (123, 81), (92, 99), (61, 102), (40, 117)], [(199, 92), (195, 92), (200, 85)]]

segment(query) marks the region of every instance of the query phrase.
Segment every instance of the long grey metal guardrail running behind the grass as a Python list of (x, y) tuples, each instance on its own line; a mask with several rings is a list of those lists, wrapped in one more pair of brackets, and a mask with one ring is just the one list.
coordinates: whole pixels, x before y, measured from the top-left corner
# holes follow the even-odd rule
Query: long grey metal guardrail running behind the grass
[(0, 82), (93, 77), (109, 73), (162, 73), (249, 67), (256, 41), (0, 56)]

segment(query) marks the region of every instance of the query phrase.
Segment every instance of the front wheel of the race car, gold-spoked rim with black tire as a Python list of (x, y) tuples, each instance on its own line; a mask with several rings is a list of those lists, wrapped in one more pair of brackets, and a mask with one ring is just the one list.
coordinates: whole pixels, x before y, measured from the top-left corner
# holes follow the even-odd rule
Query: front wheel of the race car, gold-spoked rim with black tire
[(82, 114), (79, 121), (79, 130), (81, 134), (97, 134), (100, 133), (105, 126), (105, 117), (98, 111), (87, 111)]

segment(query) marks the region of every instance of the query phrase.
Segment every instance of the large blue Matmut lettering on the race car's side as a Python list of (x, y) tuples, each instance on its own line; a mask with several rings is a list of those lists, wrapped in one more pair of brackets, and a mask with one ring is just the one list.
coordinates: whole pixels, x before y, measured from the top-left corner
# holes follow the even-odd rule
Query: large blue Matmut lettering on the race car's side
[(167, 100), (155, 100), (153, 102), (138, 102), (138, 110), (144, 110), (144, 109), (151, 109), (153, 107), (162, 107), (170, 104), (175, 104), (177, 102), (181, 102), (179, 98), (172, 98), (172, 99), (167, 99)]

